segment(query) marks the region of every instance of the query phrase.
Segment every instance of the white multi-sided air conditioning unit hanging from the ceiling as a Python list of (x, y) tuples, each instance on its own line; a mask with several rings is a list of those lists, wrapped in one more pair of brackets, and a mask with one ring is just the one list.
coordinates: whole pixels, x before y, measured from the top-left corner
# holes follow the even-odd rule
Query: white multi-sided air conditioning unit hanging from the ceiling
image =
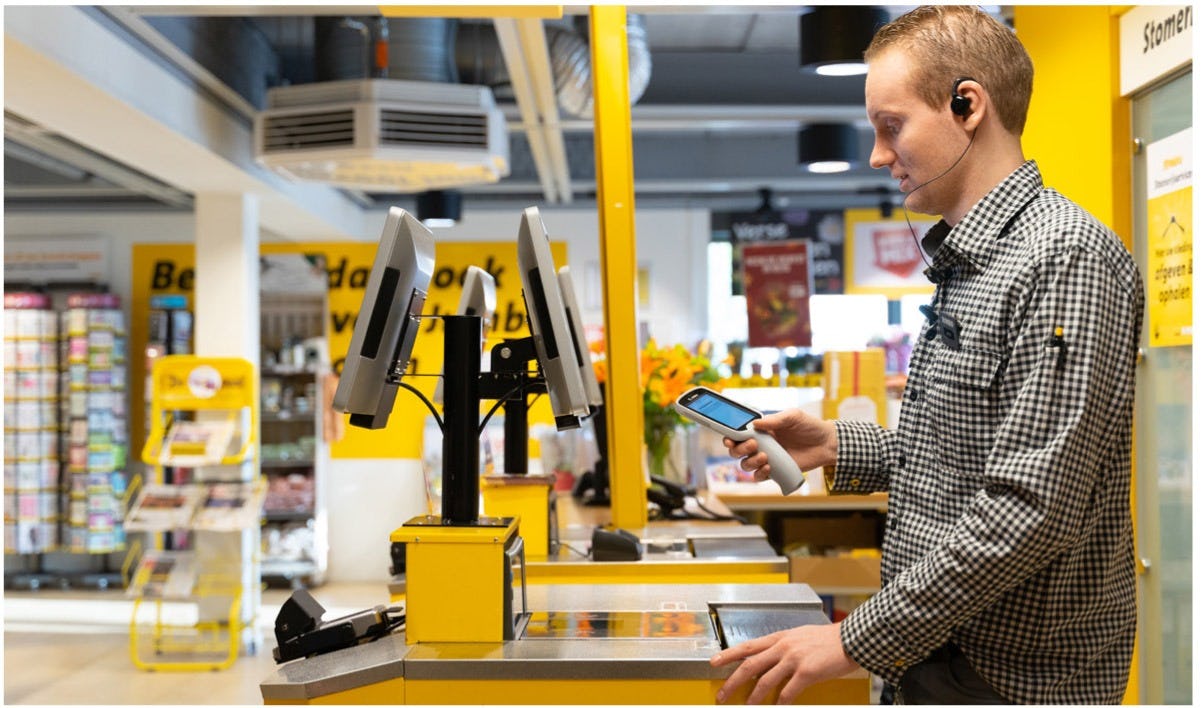
[(290, 179), (370, 191), (509, 175), (506, 117), (482, 85), (365, 78), (273, 88), (255, 159)]

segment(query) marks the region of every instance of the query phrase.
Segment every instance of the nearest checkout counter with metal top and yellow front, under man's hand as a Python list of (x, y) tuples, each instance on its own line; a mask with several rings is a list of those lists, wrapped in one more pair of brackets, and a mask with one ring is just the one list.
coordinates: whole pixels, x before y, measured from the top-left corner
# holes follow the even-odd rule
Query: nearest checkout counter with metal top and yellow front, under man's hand
[[(536, 609), (517, 639), (407, 644), (399, 632), (281, 666), (260, 684), (264, 702), (713, 703), (734, 669), (709, 663), (721, 648), (720, 632), (738, 642), (827, 623), (819, 596), (798, 584), (535, 585), (527, 591)], [(799, 697), (826, 704), (868, 700), (864, 672), (816, 684)]]

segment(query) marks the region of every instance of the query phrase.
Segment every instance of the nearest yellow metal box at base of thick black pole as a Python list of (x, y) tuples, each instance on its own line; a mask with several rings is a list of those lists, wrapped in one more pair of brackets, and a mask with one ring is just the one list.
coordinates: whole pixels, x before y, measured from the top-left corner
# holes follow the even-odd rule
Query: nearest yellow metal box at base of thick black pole
[[(518, 519), (483, 517), (444, 525), (415, 517), (389, 539), (406, 544), (406, 643), (501, 642), (514, 638), (526, 609), (523, 538)], [(519, 566), (521, 604), (514, 603)]]

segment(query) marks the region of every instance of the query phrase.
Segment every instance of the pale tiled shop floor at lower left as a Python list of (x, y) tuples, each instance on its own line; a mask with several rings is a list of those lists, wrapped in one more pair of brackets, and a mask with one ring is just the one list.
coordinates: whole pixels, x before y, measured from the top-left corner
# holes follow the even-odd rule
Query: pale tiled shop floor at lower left
[[(389, 603), (384, 584), (312, 590), (326, 618)], [(131, 606), (118, 591), (5, 592), (4, 703), (262, 704), (259, 684), (276, 671), (272, 621), (285, 590), (264, 592), (262, 649), (218, 672), (148, 672), (130, 660)]]

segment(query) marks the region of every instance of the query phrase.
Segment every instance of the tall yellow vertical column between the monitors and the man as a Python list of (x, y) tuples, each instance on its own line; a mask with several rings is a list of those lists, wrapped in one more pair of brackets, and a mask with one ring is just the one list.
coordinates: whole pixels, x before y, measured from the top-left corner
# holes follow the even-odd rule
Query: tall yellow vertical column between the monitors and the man
[(647, 523), (644, 407), (639, 391), (636, 328), (636, 190), (627, 90), (627, 11), (590, 6), (594, 67), (594, 163), (597, 170), (598, 238), (606, 321), (607, 455), (610, 520), (636, 529)]

